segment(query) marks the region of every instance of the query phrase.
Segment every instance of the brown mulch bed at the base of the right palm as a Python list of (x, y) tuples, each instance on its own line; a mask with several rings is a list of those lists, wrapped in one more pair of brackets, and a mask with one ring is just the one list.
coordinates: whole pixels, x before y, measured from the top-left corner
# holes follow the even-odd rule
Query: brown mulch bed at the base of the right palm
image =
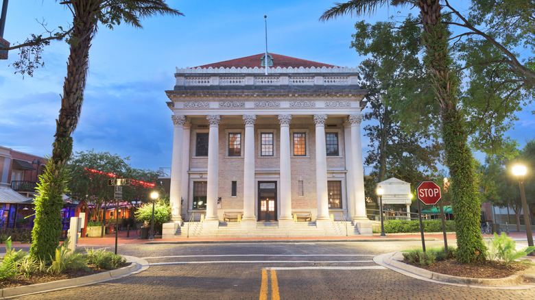
[[(405, 262), (411, 264), (410, 262)], [(412, 264), (418, 268), (425, 268), (428, 271), (469, 278), (505, 278), (514, 275), (520, 271), (530, 268), (527, 264), (509, 264), (497, 262), (495, 260), (488, 260), (482, 264), (460, 264), (457, 260), (443, 260), (435, 262), (431, 265), (422, 266), (420, 264)]]

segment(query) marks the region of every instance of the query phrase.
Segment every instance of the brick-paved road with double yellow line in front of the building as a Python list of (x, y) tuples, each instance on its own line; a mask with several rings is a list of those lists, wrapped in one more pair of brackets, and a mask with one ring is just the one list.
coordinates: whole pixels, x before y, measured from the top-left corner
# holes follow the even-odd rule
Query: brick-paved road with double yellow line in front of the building
[[(427, 247), (443, 245), (426, 242)], [(535, 299), (535, 289), (434, 284), (375, 264), (420, 242), (122, 245), (151, 266), (102, 284), (18, 299)]]

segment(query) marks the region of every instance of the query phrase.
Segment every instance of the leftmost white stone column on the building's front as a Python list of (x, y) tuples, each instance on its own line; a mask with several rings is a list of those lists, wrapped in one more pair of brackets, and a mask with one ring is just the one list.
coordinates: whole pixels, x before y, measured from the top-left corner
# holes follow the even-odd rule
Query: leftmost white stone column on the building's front
[(171, 221), (180, 223), (180, 188), (182, 186), (182, 142), (184, 136), (185, 116), (171, 116), (175, 125), (173, 134), (173, 157), (171, 162), (171, 186), (169, 186), (169, 202), (171, 203)]

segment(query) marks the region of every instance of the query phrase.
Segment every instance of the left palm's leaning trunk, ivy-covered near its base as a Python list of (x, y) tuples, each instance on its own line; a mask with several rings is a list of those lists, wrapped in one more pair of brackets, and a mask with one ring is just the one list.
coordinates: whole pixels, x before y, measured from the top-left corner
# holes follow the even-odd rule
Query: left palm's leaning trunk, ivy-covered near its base
[(53, 257), (62, 234), (62, 195), (69, 179), (66, 165), (73, 148), (71, 134), (80, 117), (88, 70), (88, 53), (96, 26), (92, 10), (75, 4), (73, 10), (75, 29), (70, 42), (67, 76), (63, 85), (60, 114), (56, 120), (52, 157), (47, 163), (46, 172), (40, 177), (37, 188), (39, 196), (35, 201), (36, 218), (30, 249), (34, 258), (47, 261)]

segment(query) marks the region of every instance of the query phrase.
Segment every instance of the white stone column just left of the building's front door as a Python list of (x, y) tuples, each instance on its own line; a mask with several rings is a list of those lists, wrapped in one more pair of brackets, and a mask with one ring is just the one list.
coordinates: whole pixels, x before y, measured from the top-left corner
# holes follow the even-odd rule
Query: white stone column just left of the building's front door
[(254, 123), (257, 116), (244, 114), (245, 147), (243, 147), (243, 224), (257, 221), (254, 215)]

